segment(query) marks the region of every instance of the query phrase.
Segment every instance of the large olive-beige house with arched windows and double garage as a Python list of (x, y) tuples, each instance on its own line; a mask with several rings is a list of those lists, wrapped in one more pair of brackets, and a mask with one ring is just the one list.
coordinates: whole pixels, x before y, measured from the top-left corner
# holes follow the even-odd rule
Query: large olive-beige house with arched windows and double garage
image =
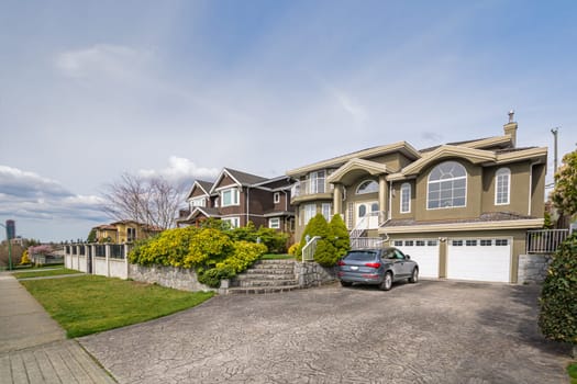
[[(422, 276), (517, 282), (528, 229), (544, 222), (546, 147), (504, 135), (417, 150), (406, 142), (287, 172), (299, 238), (318, 212), (341, 214), (352, 244), (389, 244)], [(371, 240), (371, 238), (377, 238)]]

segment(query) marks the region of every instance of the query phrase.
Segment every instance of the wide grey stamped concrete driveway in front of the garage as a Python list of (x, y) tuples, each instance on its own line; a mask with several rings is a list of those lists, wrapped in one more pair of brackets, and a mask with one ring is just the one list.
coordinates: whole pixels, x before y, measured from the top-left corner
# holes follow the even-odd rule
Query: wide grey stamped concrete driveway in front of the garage
[(120, 383), (565, 383), (537, 294), (422, 281), (219, 296), (80, 342)]

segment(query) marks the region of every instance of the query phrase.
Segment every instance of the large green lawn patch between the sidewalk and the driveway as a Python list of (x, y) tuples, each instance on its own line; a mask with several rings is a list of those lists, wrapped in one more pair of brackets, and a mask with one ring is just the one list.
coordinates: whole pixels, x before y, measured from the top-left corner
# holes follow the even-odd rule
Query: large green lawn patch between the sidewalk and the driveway
[(213, 292), (185, 292), (98, 275), (21, 281), (69, 338), (193, 307)]

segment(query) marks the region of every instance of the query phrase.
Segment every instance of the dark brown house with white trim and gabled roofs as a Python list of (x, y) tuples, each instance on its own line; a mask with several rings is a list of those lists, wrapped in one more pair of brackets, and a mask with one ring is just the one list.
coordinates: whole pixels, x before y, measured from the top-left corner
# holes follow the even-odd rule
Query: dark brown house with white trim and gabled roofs
[(223, 168), (214, 182), (195, 181), (187, 195), (188, 208), (181, 210), (178, 226), (199, 225), (213, 217), (243, 227), (253, 222), (291, 235), (295, 213), (290, 205), (293, 180), (287, 176), (266, 179)]

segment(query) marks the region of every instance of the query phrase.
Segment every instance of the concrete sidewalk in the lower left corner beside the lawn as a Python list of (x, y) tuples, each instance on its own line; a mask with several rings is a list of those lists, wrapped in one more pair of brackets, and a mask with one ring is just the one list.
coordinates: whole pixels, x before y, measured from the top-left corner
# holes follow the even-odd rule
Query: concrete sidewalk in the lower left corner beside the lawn
[(16, 279), (0, 272), (0, 384), (114, 382)]

